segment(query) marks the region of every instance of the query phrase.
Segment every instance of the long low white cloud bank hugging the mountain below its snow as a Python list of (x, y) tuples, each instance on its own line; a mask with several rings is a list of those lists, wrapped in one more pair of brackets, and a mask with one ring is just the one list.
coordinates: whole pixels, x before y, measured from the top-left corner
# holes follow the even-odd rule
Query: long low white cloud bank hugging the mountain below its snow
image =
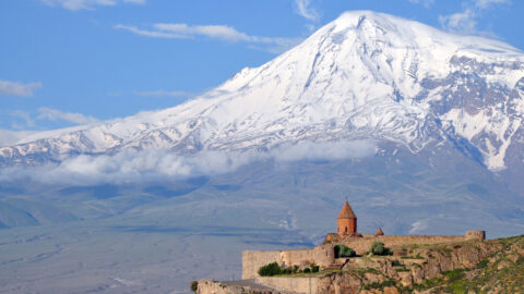
[(34, 181), (46, 184), (88, 186), (130, 184), (213, 175), (235, 171), (254, 161), (338, 160), (362, 158), (376, 151), (373, 140), (299, 143), (267, 152), (200, 151), (191, 156), (169, 150), (124, 150), (115, 156), (81, 155), (59, 164), (13, 167), (0, 171), (0, 182)]

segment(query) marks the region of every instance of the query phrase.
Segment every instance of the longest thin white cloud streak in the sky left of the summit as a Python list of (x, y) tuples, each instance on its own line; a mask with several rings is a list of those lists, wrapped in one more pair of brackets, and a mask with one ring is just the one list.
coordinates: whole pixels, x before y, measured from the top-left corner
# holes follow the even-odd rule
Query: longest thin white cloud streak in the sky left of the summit
[(158, 23), (150, 28), (140, 28), (132, 25), (118, 24), (116, 29), (124, 29), (140, 36), (152, 38), (169, 38), (169, 39), (192, 39), (196, 37), (206, 37), (222, 41), (230, 42), (248, 42), (251, 45), (265, 45), (267, 51), (284, 51), (297, 45), (301, 38), (281, 38), (281, 37), (261, 37), (252, 36), (239, 32), (227, 25), (188, 25), (188, 24), (170, 24)]

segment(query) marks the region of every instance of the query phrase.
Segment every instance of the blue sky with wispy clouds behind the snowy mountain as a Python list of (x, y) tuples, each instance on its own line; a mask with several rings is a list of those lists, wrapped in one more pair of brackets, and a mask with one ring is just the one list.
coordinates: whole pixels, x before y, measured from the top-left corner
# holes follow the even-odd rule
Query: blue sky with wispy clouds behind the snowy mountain
[(176, 106), (347, 10), (524, 49), (520, 0), (0, 0), (0, 131)]

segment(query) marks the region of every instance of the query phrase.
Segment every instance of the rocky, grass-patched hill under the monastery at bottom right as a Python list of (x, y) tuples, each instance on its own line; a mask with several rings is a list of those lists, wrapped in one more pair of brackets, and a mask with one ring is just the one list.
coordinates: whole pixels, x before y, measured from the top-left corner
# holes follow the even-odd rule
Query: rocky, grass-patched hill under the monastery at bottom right
[[(484, 242), (404, 245), (391, 249), (392, 256), (349, 258), (340, 269), (262, 278), (257, 282), (277, 284), (278, 279), (295, 280), (297, 285), (312, 285), (311, 293), (323, 294), (524, 293), (524, 235)], [(287, 293), (260, 284), (199, 281), (196, 293), (213, 291)]]

